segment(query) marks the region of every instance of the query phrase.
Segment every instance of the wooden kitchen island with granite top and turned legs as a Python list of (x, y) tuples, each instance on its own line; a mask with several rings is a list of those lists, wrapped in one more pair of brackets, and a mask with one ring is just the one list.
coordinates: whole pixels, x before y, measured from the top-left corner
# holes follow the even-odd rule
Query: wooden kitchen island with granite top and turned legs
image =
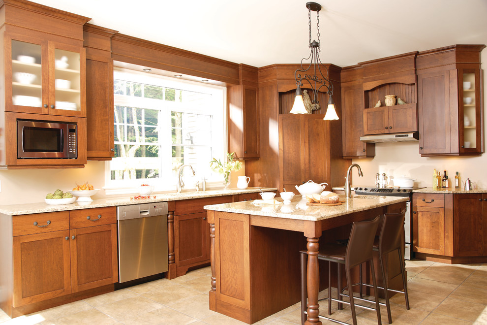
[(252, 324), (300, 301), (299, 251), (307, 249), (307, 321), (319, 321), (319, 241), (347, 237), (355, 221), (406, 207), (405, 197), (342, 197), (337, 206), (252, 202), (207, 205), (211, 233), (210, 309)]

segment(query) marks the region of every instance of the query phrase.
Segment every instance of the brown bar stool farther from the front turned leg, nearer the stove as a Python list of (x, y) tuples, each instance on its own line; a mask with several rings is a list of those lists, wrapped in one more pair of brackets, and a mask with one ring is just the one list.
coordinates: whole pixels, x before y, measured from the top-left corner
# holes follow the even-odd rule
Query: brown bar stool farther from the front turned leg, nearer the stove
[[(375, 238), (373, 250), (379, 252), (379, 264), (382, 273), (382, 279), (384, 282), (384, 287), (377, 287), (379, 289), (384, 290), (384, 299), (386, 303), (380, 303), (381, 305), (385, 305), (387, 309), (387, 318), (389, 324), (392, 323), (391, 317), (391, 305), (389, 303), (389, 292), (398, 292), (404, 294), (406, 299), (406, 309), (409, 309), (409, 298), (407, 295), (407, 281), (406, 281), (406, 274), (404, 272), (404, 256), (401, 253), (401, 247), (403, 245), (402, 241), (402, 234), (404, 233), (404, 215), (406, 213), (406, 209), (402, 210), (399, 213), (386, 213), (382, 218), (382, 227), (380, 230), (379, 237)], [(404, 288), (404, 292), (390, 289), (389, 288), (389, 277), (387, 274), (387, 268), (385, 267), (386, 262), (386, 255), (390, 252), (397, 251), (399, 256), (399, 263), (400, 263), (400, 270), (402, 275), (402, 285)], [(362, 266), (361, 266), (362, 268)], [(362, 298), (362, 287), (372, 287), (372, 285), (363, 283), (362, 282), (362, 269), (360, 270), (360, 280), (359, 283), (354, 284), (354, 286), (360, 285), (360, 297)], [(364, 299), (367, 300), (367, 299)], [(373, 302), (372, 300), (368, 300)]]

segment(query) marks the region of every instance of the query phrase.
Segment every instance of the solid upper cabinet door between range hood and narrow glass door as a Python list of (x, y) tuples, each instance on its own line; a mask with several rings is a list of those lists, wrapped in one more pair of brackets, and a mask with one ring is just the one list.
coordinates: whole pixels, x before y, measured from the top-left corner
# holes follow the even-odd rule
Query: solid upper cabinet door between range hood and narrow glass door
[(420, 154), (423, 156), (449, 154), (451, 129), (450, 73), (440, 71), (418, 75), (418, 127)]

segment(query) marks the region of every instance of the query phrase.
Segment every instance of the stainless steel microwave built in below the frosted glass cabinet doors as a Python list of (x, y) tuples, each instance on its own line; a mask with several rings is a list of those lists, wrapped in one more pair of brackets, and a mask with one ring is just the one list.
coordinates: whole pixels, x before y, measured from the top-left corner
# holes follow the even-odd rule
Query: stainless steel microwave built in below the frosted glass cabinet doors
[(78, 158), (77, 124), (17, 119), (17, 158)]

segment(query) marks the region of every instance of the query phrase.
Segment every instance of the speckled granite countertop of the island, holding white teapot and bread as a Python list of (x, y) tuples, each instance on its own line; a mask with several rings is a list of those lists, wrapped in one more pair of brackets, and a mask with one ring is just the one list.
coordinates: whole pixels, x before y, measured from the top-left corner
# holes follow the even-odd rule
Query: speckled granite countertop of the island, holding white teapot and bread
[(301, 195), (295, 195), (289, 204), (282, 204), (282, 199), (276, 198), (275, 200), (279, 202), (276, 205), (260, 206), (253, 204), (253, 201), (244, 201), (205, 205), (204, 208), (222, 212), (319, 221), (407, 200), (407, 197), (394, 196), (356, 195), (351, 198), (346, 198), (345, 195), (339, 196), (340, 200), (345, 202), (335, 206), (306, 205), (306, 200), (302, 199)]

